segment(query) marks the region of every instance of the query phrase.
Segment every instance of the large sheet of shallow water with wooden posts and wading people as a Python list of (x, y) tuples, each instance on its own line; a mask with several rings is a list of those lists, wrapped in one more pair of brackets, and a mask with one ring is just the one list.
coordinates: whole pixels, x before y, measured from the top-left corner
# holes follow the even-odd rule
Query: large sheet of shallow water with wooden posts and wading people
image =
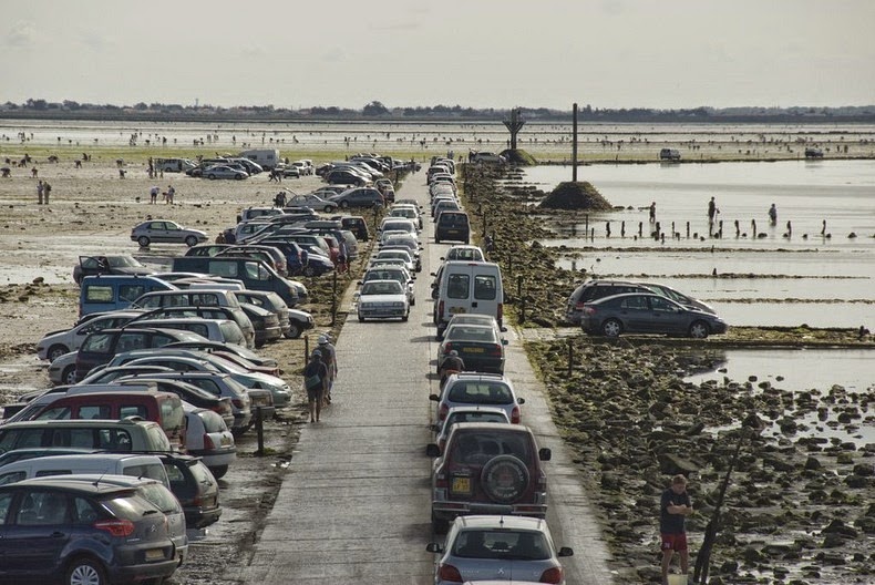
[[(568, 167), (534, 167), (524, 182), (549, 191), (569, 173)], [(543, 244), (573, 248), (560, 266), (599, 277), (665, 281), (713, 305), (731, 325), (875, 329), (875, 161), (591, 165), (578, 177), (611, 204), (631, 209), (590, 214), (590, 238), (584, 220), (552, 225), (557, 237)], [(722, 238), (708, 237), (711, 196), (721, 209)], [(645, 235), (651, 229), (647, 207), (652, 201), (669, 233), (665, 243), (636, 238), (639, 223)], [(772, 202), (778, 226), (768, 225)], [(764, 237), (751, 237), (752, 219)], [(785, 237), (787, 220), (792, 233)], [(671, 222), (680, 239), (670, 237)], [(734, 276), (710, 277), (714, 271)]]

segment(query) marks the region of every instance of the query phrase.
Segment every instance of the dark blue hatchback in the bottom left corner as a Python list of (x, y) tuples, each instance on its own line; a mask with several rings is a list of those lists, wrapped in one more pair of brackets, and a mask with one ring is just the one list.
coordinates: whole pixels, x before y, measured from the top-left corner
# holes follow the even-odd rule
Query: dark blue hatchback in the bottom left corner
[(39, 478), (0, 486), (0, 510), (3, 583), (162, 581), (176, 571), (167, 520), (136, 490)]

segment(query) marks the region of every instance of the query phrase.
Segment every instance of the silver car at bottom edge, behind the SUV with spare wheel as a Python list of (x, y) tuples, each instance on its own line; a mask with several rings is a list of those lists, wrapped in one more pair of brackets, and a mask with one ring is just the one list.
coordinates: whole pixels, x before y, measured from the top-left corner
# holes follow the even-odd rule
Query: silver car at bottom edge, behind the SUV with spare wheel
[(574, 555), (558, 551), (544, 520), (525, 516), (460, 516), (446, 534), (446, 544), (429, 543), (440, 554), (434, 583), (449, 585), (469, 581), (565, 584), (559, 558)]

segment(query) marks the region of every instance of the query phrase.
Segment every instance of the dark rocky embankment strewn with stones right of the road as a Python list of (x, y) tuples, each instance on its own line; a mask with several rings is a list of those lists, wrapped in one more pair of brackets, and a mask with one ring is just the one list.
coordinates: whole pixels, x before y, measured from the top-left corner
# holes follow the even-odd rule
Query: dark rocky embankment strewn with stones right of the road
[[(495, 240), (507, 312), (555, 332), (581, 276), (556, 268), (558, 250), (533, 243), (547, 235), (525, 205), (536, 194), (502, 192), (490, 173), (467, 167), (465, 196), (475, 227)], [(709, 583), (875, 582), (875, 444), (858, 433), (875, 424), (875, 391), (793, 392), (780, 377), (684, 381), (717, 368), (721, 345), (872, 347), (871, 337), (809, 328), (743, 328), (697, 342), (533, 337), (542, 339), (527, 352), (600, 509), (619, 582), (659, 581), (659, 496), (679, 472), (697, 509), (688, 520), (696, 562), (730, 465)]]

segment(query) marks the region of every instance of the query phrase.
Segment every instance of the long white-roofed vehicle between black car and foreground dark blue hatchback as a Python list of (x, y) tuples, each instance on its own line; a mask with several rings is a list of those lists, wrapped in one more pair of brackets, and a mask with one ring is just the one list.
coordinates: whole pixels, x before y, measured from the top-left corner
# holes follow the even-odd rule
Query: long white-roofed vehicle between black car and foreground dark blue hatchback
[(148, 478), (159, 481), (165, 488), (171, 486), (167, 471), (161, 459), (156, 455), (130, 453), (89, 453), (23, 459), (0, 468), (0, 485), (31, 478), (79, 473)]

